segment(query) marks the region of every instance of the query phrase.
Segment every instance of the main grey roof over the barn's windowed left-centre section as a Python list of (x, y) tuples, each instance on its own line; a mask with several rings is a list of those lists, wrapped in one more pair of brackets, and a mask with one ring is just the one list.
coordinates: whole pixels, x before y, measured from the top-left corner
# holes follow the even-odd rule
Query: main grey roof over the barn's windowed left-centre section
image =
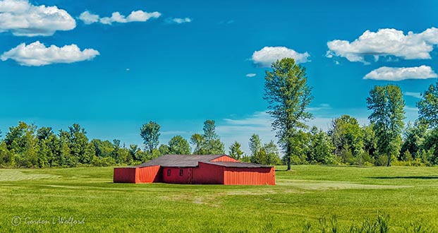
[[(197, 162), (210, 162), (224, 155), (163, 155), (135, 167), (197, 167)], [(225, 155), (228, 156), (228, 155)]]

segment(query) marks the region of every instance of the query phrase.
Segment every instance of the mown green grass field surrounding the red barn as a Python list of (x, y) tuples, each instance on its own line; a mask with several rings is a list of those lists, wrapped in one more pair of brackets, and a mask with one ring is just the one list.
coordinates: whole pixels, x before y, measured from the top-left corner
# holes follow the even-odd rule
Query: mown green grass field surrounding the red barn
[(114, 184), (112, 174), (0, 169), (0, 232), (321, 232), (322, 217), (348, 229), (377, 211), (390, 232), (438, 230), (438, 167), (294, 166), (276, 186)]

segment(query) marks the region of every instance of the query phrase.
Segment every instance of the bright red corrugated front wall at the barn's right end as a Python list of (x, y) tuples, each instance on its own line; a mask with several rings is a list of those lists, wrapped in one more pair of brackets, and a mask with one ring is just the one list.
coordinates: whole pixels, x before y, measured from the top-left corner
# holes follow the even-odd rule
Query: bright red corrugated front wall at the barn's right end
[(274, 167), (225, 167), (224, 184), (275, 185)]

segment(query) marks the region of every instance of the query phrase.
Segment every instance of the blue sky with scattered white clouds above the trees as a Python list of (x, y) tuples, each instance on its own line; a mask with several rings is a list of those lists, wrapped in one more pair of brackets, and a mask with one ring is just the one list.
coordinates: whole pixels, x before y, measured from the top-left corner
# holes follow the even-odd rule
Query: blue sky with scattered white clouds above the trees
[(406, 121), (437, 78), (436, 1), (0, 0), (0, 130), (73, 123), (89, 138), (160, 143), (217, 122), (226, 148), (274, 140), (264, 71), (293, 56), (307, 68), (309, 122), (367, 123), (374, 85), (400, 85)]

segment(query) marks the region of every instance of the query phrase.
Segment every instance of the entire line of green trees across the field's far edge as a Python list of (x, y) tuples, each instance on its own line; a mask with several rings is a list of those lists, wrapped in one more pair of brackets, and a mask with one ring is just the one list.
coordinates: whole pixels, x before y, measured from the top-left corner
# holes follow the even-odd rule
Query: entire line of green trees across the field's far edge
[[(264, 99), (272, 117), (272, 129), (279, 139), (262, 143), (257, 134), (249, 139), (250, 154), (235, 141), (229, 155), (244, 162), (263, 165), (437, 165), (438, 164), (438, 80), (425, 90), (417, 102), (419, 117), (405, 125), (405, 102), (398, 85), (376, 85), (366, 98), (371, 111), (370, 124), (344, 114), (331, 121), (328, 131), (309, 127), (312, 118), (308, 105), (312, 88), (305, 67), (285, 58), (275, 61), (266, 71)], [(140, 127), (144, 150), (121, 141), (87, 138), (79, 124), (54, 133), (50, 127), (37, 128), (20, 121), (0, 139), (0, 167), (76, 167), (83, 165), (135, 165), (166, 154), (225, 154), (224, 143), (215, 131), (215, 122), (207, 120), (203, 133), (187, 141), (174, 136), (159, 144), (160, 126), (150, 121)], [(0, 131), (0, 138), (2, 133)], [(192, 145), (192, 146), (190, 146)], [(280, 145), (280, 148), (277, 147)], [(284, 156), (280, 158), (279, 151)]]

